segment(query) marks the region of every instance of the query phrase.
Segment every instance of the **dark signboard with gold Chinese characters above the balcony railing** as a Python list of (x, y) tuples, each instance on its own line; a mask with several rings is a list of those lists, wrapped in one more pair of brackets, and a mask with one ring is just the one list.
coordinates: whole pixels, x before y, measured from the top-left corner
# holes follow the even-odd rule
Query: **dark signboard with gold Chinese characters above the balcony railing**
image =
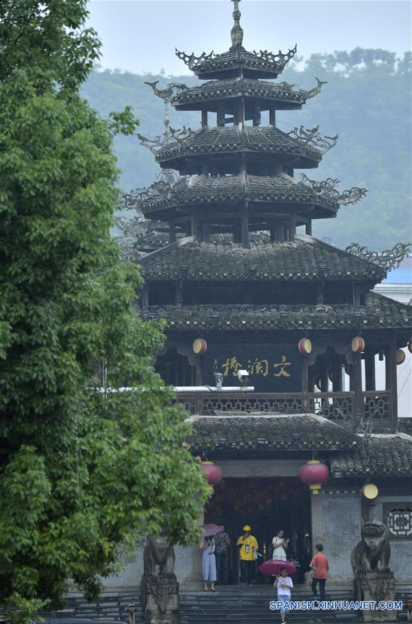
[(203, 356), (203, 382), (239, 385), (237, 373), (247, 370), (256, 392), (301, 392), (302, 356), (295, 345), (212, 345)]

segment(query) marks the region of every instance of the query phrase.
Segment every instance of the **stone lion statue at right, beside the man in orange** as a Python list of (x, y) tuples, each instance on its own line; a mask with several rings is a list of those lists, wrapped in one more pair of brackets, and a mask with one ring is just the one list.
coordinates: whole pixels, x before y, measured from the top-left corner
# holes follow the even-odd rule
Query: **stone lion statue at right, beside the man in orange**
[(365, 522), (362, 525), (361, 537), (350, 557), (354, 573), (374, 572), (379, 569), (389, 571), (388, 527), (377, 520)]

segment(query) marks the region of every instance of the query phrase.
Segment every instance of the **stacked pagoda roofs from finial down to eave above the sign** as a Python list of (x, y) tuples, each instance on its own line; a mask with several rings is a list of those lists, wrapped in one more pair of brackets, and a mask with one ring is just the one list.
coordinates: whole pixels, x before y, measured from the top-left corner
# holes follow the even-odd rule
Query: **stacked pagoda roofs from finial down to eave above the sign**
[[(300, 109), (323, 83), (316, 78), (305, 91), (275, 82), (296, 47), (248, 52), (238, 0), (233, 17), (228, 52), (176, 52), (202, 84), (171, 83), (162, 91), (152, 85), (177, 110), (199, 111), (201, 127), (169, 127), (164, 141), (140, 137), (162, 169), (180, 174), (138, 196), (146, 218), (169, 224), (170, 241), (139, 259), (148, 284), (144, 314), (165, 316), (169, 333), (178, 329), (180, 336), (239, 329), (362, 335), (390, 327), (406, 344), (411, 309), (370, 293), (384, 267), (311, 236), (312, 220), (334, 217), (366, 193), (339, 191), (331, 178), (295, 176), (295, 169), (317, 168), (338, 135), (323, 137), (318, 126), (284, 132), (276, 111)], [(384, 348), (379, 340), (375, 352)]]

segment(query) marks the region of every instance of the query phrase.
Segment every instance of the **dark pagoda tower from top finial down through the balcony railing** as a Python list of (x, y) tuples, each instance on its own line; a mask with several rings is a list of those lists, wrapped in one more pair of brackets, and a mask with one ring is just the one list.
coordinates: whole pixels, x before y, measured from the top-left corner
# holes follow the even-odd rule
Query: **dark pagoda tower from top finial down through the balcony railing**
[[(203, 83), (151, 85), (201, 120), (200, 130), (169, 124), (166, 139), (140, 137), (164, 171), (179, 174), (137, 196), (146, 219), (169, 227), (169, 244), (139, 259), (139, 311), (169, 323), (157, 370), (175, 386), (212, 386), (216, 372), (233, 386), (248, 370), (251, 394), (182, 393), (192, 413), (316, 410), (397, 431), (396, 367), (411, 340), (411, 309), (371, 292), (386, 276), (384, 261), (312, 236), (314, 219), (336, 217), (366, 189), (296, 175), (317, 168), (338, 135), (284, 132), (276, 112), (300, 110), (324, 83), (316, 78), (307, 91), (276, 80), (296, 46), (246, 51), (240, 17), (234, 0), (227, 52), (176, 51)], [(386, 361), (384, 390), (375, 387), (377, 354)]]

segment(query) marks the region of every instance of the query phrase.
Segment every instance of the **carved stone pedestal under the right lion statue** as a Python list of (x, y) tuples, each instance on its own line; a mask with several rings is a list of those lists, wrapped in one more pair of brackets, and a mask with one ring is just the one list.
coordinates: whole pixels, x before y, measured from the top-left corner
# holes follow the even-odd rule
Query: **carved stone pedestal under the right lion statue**
[[(357, 600), (372, 600), (375, 603), (394, 600), (395, 575), (393, 572), (377, 570), (375, 572), (357, 572), (354, 575), (354, 590)], [(364, 622), (394, 622), (395, 609), (364, 609)]]

